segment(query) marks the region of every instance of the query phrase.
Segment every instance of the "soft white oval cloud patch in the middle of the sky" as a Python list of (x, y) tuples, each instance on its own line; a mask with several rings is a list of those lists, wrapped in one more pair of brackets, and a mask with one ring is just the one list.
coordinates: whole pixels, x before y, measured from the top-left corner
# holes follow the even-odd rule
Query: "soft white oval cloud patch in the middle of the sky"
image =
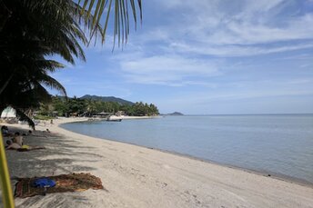
[(203, 85), (194, 78), (220, 74), (214, 62), (173, 55), (121, 60), (120, 66), (129, 82), (140, 84)]

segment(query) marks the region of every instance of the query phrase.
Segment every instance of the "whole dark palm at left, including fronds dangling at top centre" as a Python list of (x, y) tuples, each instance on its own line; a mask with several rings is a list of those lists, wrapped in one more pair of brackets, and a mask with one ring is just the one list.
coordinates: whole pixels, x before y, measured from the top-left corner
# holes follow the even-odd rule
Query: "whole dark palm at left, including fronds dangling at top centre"
[[(46, 55), (59, 54), (71, 64), (75, 64), (74, 56), (85, 60), (80, 43), (88, 45), (97, 35), (102, 37), (102, 42), (105, 41), (112, 7), (112, 0), (99, 0), (91, 15), (95, 1), (86, 0), (82, 6), (79, 3), (70, 0), (0, 0), (0, 112), (11, 105), (22, 114), (25, 108), (50, 100), (45, 85), (66, 95), (64, 87), (47, 74), (63, 65), (46, 60)], [(130, 4), (136, 22), (134, 1), (130, 0)], [(141, 12), (141, 1), (138, 5)], [(106, 24), (102, 28), (99, 20), (106, 7)], [(116, 0), (115, 9), (115, 39), (118, 35), (120, 43), (122, 30), (124, 43), (129, 33), (127, 1)], [(89, 39), (82, 25), (89, 29)]]

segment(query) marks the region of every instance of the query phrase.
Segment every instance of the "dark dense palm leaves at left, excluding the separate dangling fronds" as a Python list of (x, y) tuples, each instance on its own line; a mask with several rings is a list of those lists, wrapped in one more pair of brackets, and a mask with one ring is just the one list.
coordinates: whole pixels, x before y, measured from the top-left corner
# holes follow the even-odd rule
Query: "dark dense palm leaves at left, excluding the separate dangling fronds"
[(26, 109), (51, 100), (45, 86), (66, 95), (62, 84), (48, 74), (63, 64), (46, 59), (46, 55), (59, 54), (72, 64), (75, 57), (85, 60), (80, 43), (86, 43), (86, 36), (76, 22), (71, 1), (1, 3), (9, 17), (0, 30), (0, 111), (11, 105), (25, 119)]

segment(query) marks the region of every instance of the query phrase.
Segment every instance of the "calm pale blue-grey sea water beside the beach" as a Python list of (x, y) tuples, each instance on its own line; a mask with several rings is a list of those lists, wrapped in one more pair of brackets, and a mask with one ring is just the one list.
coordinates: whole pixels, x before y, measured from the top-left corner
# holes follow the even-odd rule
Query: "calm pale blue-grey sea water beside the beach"
[(167, 116), (63, 127), (313, 183), (313, 114)]

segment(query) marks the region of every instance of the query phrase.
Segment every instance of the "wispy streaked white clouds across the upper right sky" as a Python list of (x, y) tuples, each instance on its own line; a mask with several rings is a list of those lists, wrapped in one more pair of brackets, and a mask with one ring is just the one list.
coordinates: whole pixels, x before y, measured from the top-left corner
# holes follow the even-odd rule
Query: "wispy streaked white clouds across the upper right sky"
[[(169, 46), (185, 45), (184, 49), (193, 48), (191, 51), (197, 51), (198, 54), (203, 51), (203, 54), (221, 56), (270, 54), (312, 48), (311, 44), (289, 43), (313, 40), (313, 14), (290, 15), (294, 13), (293, 10), (298, 11), (297, 7), (289, 11), (294, 3), (283, 0), (157, 1), (156, 5), (163, 6), (160, 10), (175, 12), (170, 16), (172, 21), (154, 27), (138, 40), (145, 45), (158, 40), (163, 42), (167, 50), (170, 49), (168, 43), (172, 43)], [(268, 48), (268, 44), (276, 45)], [(184, 53), (179, 47), (175, 50), (176, 53)]]

